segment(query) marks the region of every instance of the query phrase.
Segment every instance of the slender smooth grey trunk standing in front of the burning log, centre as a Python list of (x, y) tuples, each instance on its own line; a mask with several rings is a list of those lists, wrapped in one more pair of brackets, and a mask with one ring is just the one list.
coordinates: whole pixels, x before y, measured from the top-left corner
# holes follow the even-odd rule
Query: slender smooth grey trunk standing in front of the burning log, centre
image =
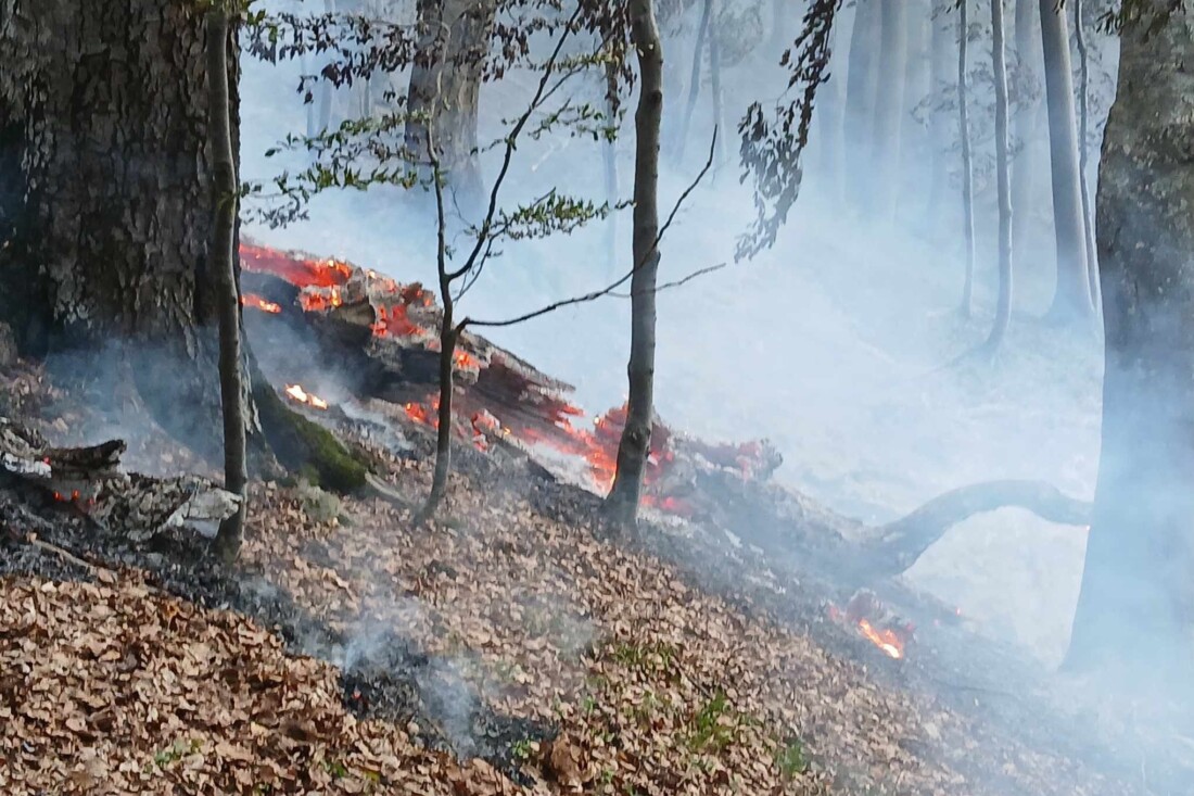
[(651, 452), (656, 379), (656, 278), (659, 273), (659, 123), (663, 118), (663, 45), (652, 0), (630, 0), (630, 41), (639, 54), (639, 108), (634, 115), (634, 275), (630, 278), (629, 406), (617, 447), (617, 474), (607, 498), (622, 525), (638, 518), (642, 471)]

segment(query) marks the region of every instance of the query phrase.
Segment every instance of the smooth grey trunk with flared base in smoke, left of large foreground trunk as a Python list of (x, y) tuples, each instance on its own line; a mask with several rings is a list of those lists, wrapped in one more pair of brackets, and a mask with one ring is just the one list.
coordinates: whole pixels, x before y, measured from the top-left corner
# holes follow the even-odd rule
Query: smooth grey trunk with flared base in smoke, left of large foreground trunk
[(1090, 318), (1090, 278), (1082, 220), (1078, 172), (1078, 122), (1073, 110), (1070, 33), (1064, 8), (1040, 0), (1045, 49), (1045, 93), (1048, 106), (1050, 166), (1053, 178), (1053, 231), (1057, 243), (1057, 292), (1050, 316), (1055, 320)]

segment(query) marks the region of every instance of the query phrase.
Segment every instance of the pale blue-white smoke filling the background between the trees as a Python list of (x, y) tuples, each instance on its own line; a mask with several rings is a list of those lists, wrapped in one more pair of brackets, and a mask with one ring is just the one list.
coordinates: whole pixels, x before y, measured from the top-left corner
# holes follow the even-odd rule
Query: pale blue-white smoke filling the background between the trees
[[(343, 4), (341, 4), (343, 5)], [(1011, 117), (1015, 294), (1013, 322), (991, 362), (940, 366), (981, 343), (998, 290), (991, 29), (986, 8), (970, 12), (967, 75), (974, 149), (975, 286), (973, 312), (958, 312), (965, 281), (956, 68), (959, 13), (952, 4), (909, 0), (897, 53), (878, 97), (899, 105), (876, 149), (872, 116), (848, 112), (855, 4), (833, 25), (830, 79), (818, 92), (800, 198), (777, 244), (752, 261), (659, 295), (656, 406), (679, 428), (710, 439), (769, 437), (784, 455), (778, 477), (847, 515), (894, 519), (964, 484), (998, 478), (1050, 482), (1081, 498), (1094, 492), (1098, 457), (1102, 349), (1094, 322), (1042, 320), (1054, 295), (1057, 256), (1048, 173), (1048, 123), (1036, 0), (1007, 5)], [(720, 143), (714, 170), (661, 244), (661, 278), (733, 263), (736, 239), (753, 220), (750, 184), (738, 180), (736, 125), (746, 105), (778, 96), (778, 57), (800, 25), (800, 2), (727, 0), (710, 30), (722, 42)], [(1114, 97), (1118, 39), (1098, 31), (1106, 4), (1087, 2), (1090, 51), (1091, 200), (1098, 141)], [(332, 6), (328, 6), (330, 8)], [(318, 2), (271, 0), (270, 11), (318, 11)], [(412, 20), (413, 0), (367, 0), (380, 18)], [(1072, 11), (1072, 7), (1069, 8)], [(660, 203), (670, 203), (707, 154), (716, 111), (706, 61), (685, 146), (679, 146), (701, 4), (660, 4), (665, 114)], [(1072, 14), (1069, 23), (1073, 32)], [(876, 51), (876, 56), (879, 53)], [(242, 178), (301, 170), (304, 153), (264, 153), (285, 131), (322, 120), (382, 112), (387, 84), (295, 92), (318, 59), (277, 65), (242, 61)], [(1078, 59), (1073, 59), (1078, 85)], [(405, 88), (406, 73), (392, 84)], [(511, 108), (536, 76), (511, 71), (482, 85), (478, 139), (500, 135)], [(573, 87), (602, 102), (593, 80)], [(325, 110), (326, 108), (326, 110)], [(876, 109), (878, 112), (878, 109)], [(326, 114), (326, 116), (324, 116)], [(633, 173), (632, 120), (616, 143), (622, 189)], [(492, 176), (499, 152), (481, 157)], [(523, 164), (511, 198), (553, 186), (603, 197), (603, 164), (589, 142), (566, 135), (519, 145)], [(878, 158), (878, 160), (876, 160)], [(881, 164), (876, 166), (875, 164)], [(417, 194), (418, 191), (416, 191)], [(418, 200), (416, 200), (418, 201)], [(316, 197), (309, 219), (282, 229), (248, 222), (264, 243), (334, 255), (401, 281), (435, 283), (433, 224), (411, 212), (402, 189)], [(629, 251), (629, 212), (618, 218), (618, 251)], [(481, 276), (468, 311), (503, 317), (561, 295), (604, 286), (607, 225), (571, 237), (519, 241)], [(607, 299), (529, 324), (492, 330), (494, 342), (578, 386), (586, 409), (626, 393), (629, 302)], [(336, 384), (312, 385), (337, 396)], [(1051, 526), (1018, 509), (972, 518), (916, 564), (909, 577), (956, 604), (980, 631), (1024, 644), (1055, 663), (1065, 651), (1082, 575), (1081, 529)]]

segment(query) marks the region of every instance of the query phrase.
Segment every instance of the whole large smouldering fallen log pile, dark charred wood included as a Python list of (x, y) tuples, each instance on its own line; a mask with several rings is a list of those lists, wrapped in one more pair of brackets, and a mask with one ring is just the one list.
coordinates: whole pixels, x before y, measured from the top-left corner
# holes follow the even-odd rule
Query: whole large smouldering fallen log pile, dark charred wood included
[[(265, 350), (294, 351), (283, 335), (312, 339), (319, 354), (283, 356), (285, 394), (324, 410), (327, 400), (302, 384), (334, 372), (350, 391), (402, 406), (416, 424), (438, 425), (441, 311), (418, 283), (401, 284), (376, 271), (338, 259), (316, 259), (265, 246), (241, 246), (250, 332)], [(284, 331), (289, 330), (289, 331)], [(272, 341), (276, 343), (270, 344)], [(589, 486), (604, 494), (614, 482), (626, 408), (615, 408), (584, 428), (585, 412), (570, 400), (573, 387), (490, 341), (466, 332), (455, 351), (455, 431), (485, 451), (513, 446), (536, 455), (564, 454), (581, 463)], [(657, 420), (645, 476), (644, 502), (660, 510), (696, 516), (698, 472), (716, 471), (744, 480), (765, 480), (780, 466), (767, 441), (710, 445), (672, 431)]]

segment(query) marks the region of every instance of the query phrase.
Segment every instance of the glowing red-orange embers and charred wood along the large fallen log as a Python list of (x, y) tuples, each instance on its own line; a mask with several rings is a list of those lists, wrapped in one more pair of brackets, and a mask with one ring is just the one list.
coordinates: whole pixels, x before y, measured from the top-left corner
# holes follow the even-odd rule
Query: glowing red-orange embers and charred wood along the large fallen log
[[(330, 324), (352, 336), (350, 330), (367, 329), (374, 341), (373, 361), (394, 362), (388, 374), (392, 393), (384, 399), (401, 406), (414, 423), (437, 429), (437, 360), (439, 355), (439, 310), (435, 296), (419, 283), (401, 284), (374, 270), (361, 269), (338, 259), (319, 259), (296, 252), (245, 244), (241, 246), (245, 270), (261, 275), (246, 293), (246, 306), (271, 314), (281, 313), (290, 299), (288, 289), (297, 288), (296, 304), (304, 312), (326, 313)], [(291, 286), (282, 289), (273, 280)], [(289, 293), (294, 295), (294, 293)], [(282, 301), (279, 306), (276, 301)], [(337, 310), (336, 313), (331, 311)], [(393, 357), (393, 359), (386, 359)], [(417, 359), (416, 359), (417, 357)], [(541, 374), (488, 341), (466, 333), (453, 355), (457, 373), (453, 431), (487, 451), (496, 439), (510, 440), (533, 448), (543, 446), (558, 453), (577, 457), (595, 491), (605, 494), (614, 484), (617, 448), (627, 421), (627, 406), (617, 406), (596, 418), (592, 428), (581, 423), (585, 412), (570, 403), (571, 386)], [(382, 365), (382, 368), (386, 366)], [(413, 371), (412, 371), (413, 367)], [(412, 378), (412, 373), (417, 375)], [(290, 379), (302, 379), (294, 373)], [(382, 381), (384, 384), (384, 381)], [(291, 400), (316, 409), (327, 403), (298, 385), (288, 385)], [(684, 449), (698, 455), (701, 466), (713, 466), (752, 478), (778, 466), (774, 451), (762, 443), (703, 445), (684, 439)], [(658, 420), (651, 434), (651, 454), (644, 473), (645, 506), (681, 516), (693, 516), (688, 498), (667, 484), (676, 463), (676, 437)], [(689, 476), (690, 477), (690, 476)]]

